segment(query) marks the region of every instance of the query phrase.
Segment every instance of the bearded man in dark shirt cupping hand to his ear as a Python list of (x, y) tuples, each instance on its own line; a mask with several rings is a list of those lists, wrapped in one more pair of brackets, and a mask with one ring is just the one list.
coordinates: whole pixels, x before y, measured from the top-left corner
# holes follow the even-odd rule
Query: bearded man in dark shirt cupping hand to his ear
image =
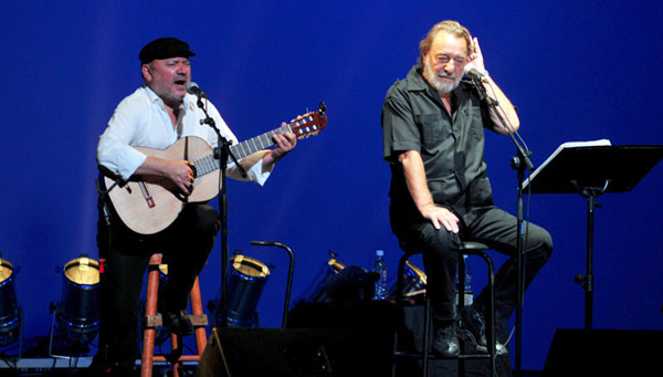
[[(498, 354), (507, 353), (507, 321), (517, 303), (516, 218), (493, 203), (484, 158), (484, 128), (515, 132), (514, 106), (488, 76), (476, 38), (455, 21), (435, 24), (420, 42), (419, 64), (387, 92), (382, 107), (383, 157), (391, 169), (390, 222), (408, 248), (421, 250), (433, 305), (433, 349), (460, 353), (454, 280), (462, 240), (488, 244), (511, 258), (496, 274)], [(490, 108), (476, 86), (463, 78), (472, 63), (482, 73)], [(533, 223), (524, 239), (525, 286), (552, 251), (550, 234)], [(463, 315), (477, 349), (485, 350), (483, 321), (487, 292)]]

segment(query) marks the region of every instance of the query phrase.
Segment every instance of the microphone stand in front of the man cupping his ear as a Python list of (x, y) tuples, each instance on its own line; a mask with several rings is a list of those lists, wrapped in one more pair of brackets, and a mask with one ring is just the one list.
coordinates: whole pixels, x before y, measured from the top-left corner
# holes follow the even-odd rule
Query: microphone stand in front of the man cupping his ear
[(519, 377), (522, 374), (522, 353), (523, 353), (523, 329), (522, 329), (522, 325), (523, 325), (523, 297), (525, 295), (524, 292), (524, 261), (523, 261), (523, 180), (525, 179), (525, 169), (529, 169), (529, 170), (534, 170), (534, 165), (532, 164), (532, 160), (529, 159), (529, 157), (532, 156), (532, 151), (529, 151), (527, 148), (523, 147), (520, 145), (520, 143), (518, 143), (518, 140), (516, 139), (516, 137), (514, 136), (515, 130), (511, 127), (511, 125), (502, 117), (502, 114), (499, 114), (499, 112), (497, 111), (497, 106), (499, 106), (499, 104), (497, 103), (497, 101), (491, 98), (491, 96), (487, 95), (486, 93), (486, 88), (484, 86), (484, 84), (482, 83), (482, 80), (480, 80), (478, 77), (474, 77), (474, 76), (470, 76), (472, 78), (472, 81), (474, 82), (474, 86), (478, 90), (480, 93), (480, 97), (481, 100), (485, 100), (486, 103), (488, 104), (490, 107), (493, 108), (493, 112), (495, 113), (495, 115), (497, 116), (497, 118), (499, 119), (499, 123), (502, 124), (502, 126), (508, 132), (508, 136), (511, 137), (512, 142), (514, 143), (514, 145), (516, 146), (516, 156), (514, 156), (512, 158), (512, 163), (511, 166), (513, 169), (516, 169), (517, 171), (517, 179), (518, 179), (518, 199), (517, 199), (517, 209), (516, 209), (516, 262), (517, 262), (517, 266), (518, 266), (518, 282), (517, 282), (517, 290), (518, 290), (518, 297), (517, 297), (517, 303), (516, 303), (516, 323), (515, 323), (515, 327), (516, 327), (516, 367), (515, 367), (515, 375), (516, 377)]

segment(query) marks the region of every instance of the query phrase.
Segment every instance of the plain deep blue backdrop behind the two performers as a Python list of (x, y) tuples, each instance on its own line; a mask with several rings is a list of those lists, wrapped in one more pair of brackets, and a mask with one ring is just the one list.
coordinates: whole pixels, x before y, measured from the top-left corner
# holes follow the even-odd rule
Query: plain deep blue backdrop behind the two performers
[[(230, 248), (274, 264), (259, 312), (281, 324), (287, 259), (296, 253), (293, 299), (337, 252), (369, 268), (385, 249), (401, 254), (388, 222), (389, 169), (381, 158), (387, 88), (415, 62), (438, 21), (455, 19), (480, 39), (486, 67), (517, 105), (522, 135), (540, 165), (569, 140), (663, 144), (659, 70), (660, 1), (52, 1), (3, 7), (0, 70), (0, 250), (19, 266), (15, 290), (25, 338), (48, 335), (57, 301), (55, 266), (96, 256), (95, 148), (117, 103), (140, 85), (138, 51), (159, 36), (188, 41), (192, 77), (240, 139), (275, 128), (318, 101), (327, 129), (301, 140), (265, 187), (229, 184)], [(496, 202), (515, 210), (514, 148), (488, 135)], [(600, 198), (596, 218), (596, 328), (662, 329), (663, 262), (657, 166), (628, 193)], [(530, 218), (555, 252), (529, 290), (523, 367), (540, 369), (557, 327), (583, 326), (586, 202), (533, 196)], [(219, 250), (219, 249), (217, 249)], [(503, 261), (496, 256), (497, 261)], [(475, 285), (478, 262), (471, 262)], [(475, 265), (476, 264), (476, 265)], [(219, 290), (220, 252), (200, 276), (203, 300)]]

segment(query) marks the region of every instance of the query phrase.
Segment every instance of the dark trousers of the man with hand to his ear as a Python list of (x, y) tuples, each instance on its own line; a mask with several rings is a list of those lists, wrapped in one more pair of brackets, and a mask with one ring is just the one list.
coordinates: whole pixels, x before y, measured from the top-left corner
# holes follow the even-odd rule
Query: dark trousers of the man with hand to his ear
[[(422, 251), (427, 289), (436, 323), (456, 317), (454, 283), (461, 240), (483, 242), (495, 251), (509, 255), (495, 275), (495, 320), (505, 326), (517, 304), (516, 218), (495, 206), (472, 207), (464, 209), (462, 214), (456, 212), (456, 216), (461, 219), (459, 234), (444, 228), (436, 230), (430, 221), (399, 226), (394, 223), (394, 217), (392, 229), (399, 240)], [(534, 223), (524, 223), (524, 228), (528, 230), (523, 238), (524, 283), (527, 289), (550, 258), (552, 239), (545, 229)], [(487, 292), (484, 289), (473, 307), (483, 313), (486, 300)]]

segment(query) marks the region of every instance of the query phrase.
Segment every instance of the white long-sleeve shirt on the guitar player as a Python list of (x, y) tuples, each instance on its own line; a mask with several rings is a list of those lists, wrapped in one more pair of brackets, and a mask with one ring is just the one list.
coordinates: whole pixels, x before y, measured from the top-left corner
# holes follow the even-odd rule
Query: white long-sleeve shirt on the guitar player
[[(198, 136), (212, 147), (218, 145), (218, 137), (212, 127), (201, 125), (204, 113), (197, 105), (197, 97), (187, 94), (180, 107), (176, 127), (166, 112), (164, 101), (147, 86), (125, 97), (115, 108), (108, 127), (99, 137), (97, 145), (97, 163), (123, 179), (128, 179), (143, 165), (147, 156), (133, 147), (167, 149), (185, 136)], [(236, 137), (230, 130), (214, 105), (207, 102), (207, 111), (214, 119), (221, 135), (233, 144)], [(246, 169), (248, 178), (242, 178), (234, 164), (229, 164), (228, 176), (239, 180), (253, 180), (263, 185), (271, 171), (263, 172), (262, 156), (259, 151), (244, 158), (241, 163)]]

